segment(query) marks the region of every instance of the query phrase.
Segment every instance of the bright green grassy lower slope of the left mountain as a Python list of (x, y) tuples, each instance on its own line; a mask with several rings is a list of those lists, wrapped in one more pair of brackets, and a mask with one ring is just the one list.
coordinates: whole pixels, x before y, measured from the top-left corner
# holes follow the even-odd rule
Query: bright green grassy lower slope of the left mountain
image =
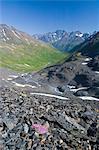
[(13, 48), (9, 45), (0, 47), (0, 65), (18, 72), (38, 71), (56, 64), (68, 56), (47, 45), (20, 45)]

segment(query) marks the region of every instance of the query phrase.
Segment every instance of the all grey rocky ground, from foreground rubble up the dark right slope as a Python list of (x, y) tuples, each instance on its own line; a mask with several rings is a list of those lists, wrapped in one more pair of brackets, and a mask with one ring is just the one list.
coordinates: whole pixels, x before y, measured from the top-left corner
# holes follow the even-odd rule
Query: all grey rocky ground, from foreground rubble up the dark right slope
[(0, 150), (99, 149), (98, 37), (36, 73), (0, 69)]

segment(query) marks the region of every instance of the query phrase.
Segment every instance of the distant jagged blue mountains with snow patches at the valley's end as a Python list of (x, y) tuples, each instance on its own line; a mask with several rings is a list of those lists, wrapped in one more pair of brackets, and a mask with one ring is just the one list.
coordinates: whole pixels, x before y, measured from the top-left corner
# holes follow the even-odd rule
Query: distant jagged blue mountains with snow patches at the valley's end
[(70, 51), (75, 46), (84, 42), (89, 37), (89, 34), (83, 34), (80, 31), (68, 33), (64, 30), (57, 30), (42, 35), (33, 35), (33, 37), (50, 43), (59, 50)]

